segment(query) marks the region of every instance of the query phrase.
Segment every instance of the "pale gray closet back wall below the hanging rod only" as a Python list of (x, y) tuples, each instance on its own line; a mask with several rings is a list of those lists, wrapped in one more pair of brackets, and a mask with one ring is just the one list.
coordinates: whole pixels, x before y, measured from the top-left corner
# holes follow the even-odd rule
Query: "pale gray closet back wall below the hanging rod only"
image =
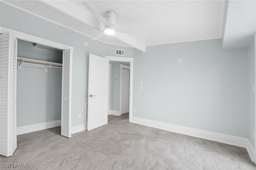
[[(18, 51), (19, 53), (19, 51)], [(22, 65), (17, 71), (17, 127), (61, 119), (62, 69)]]

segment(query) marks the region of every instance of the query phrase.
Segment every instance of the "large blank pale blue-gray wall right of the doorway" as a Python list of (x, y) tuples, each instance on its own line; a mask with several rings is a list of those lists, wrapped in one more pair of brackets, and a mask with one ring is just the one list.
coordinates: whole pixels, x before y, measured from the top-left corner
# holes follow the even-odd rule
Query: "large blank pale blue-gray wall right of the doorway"
[(218, 39), (134, 50), (133, 116), (248, 137), (247, 48), (221, 45)]

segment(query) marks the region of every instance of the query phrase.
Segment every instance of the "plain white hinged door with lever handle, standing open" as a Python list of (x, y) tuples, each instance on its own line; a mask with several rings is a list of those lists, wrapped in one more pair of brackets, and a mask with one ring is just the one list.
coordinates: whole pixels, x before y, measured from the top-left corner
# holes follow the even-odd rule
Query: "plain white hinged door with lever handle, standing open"
[(109, 60), (90, 54), (88, 71), (87, 130), (108, 124)]

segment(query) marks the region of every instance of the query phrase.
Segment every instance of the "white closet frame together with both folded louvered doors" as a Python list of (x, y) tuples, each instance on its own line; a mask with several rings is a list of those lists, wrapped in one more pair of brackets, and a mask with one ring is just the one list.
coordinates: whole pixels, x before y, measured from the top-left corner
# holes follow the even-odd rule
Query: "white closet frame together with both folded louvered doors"
[[(71, 137), (71, 82), (72, 82), (72, 53), (74, 47), (52, 42), (43, 38), (0, 27), (1, 63), (1, 146), (0, 154), (12, 156), (17, 147), (16, 140), (16, 73), (17, 73), (17, 39), (46, 45), (63, 50), (62, 52), (62, 96), (61, 96), (61, 135)], [(28, 127), (33, 128), (33, 127)], [(38, 128), (45, 128), (39, 125)], [(40, 130), (40, 129), (39, 129)], [(41, 129), (42, 130), (42, 129)], [(34, 129), (34, 131), (36, 131)]]

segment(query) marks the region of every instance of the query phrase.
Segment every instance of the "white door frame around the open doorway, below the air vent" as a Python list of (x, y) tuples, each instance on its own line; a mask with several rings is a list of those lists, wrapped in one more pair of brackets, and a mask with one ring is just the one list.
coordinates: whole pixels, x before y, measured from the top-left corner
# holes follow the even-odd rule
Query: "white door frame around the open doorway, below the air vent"
[(132, 100), (133, 100), (133, 58), (130, 57), (116, 57), (105, 55), (109, 61), (130, 62), (130, 97), (129, 97), (129, 122), (132, 122)]

